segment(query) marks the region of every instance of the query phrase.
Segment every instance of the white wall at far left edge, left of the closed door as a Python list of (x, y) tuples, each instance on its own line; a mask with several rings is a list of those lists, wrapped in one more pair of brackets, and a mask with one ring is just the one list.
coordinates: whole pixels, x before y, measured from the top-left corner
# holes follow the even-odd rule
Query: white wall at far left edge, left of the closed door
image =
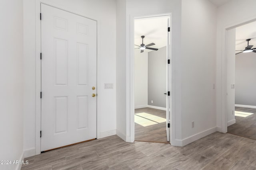
[[(23, 14), (21, 0), (0, 5), (0, 160), (23, 156)], [(14, 170), (19, 165), (0, 165)]]

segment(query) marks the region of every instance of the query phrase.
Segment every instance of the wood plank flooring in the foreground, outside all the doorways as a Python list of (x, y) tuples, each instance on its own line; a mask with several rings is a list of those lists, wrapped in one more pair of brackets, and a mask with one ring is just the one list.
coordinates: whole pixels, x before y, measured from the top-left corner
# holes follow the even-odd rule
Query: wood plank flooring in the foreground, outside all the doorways
[(114, 135), (25, 158), (22, 170), (256, 169), (256, 141), (215, 132), (184, 147), (126, 143)]

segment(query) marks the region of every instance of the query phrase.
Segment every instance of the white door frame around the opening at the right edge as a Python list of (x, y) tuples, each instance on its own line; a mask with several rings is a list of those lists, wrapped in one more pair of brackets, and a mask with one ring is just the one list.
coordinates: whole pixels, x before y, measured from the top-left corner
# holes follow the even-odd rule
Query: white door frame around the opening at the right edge
[(229, 29), (233, 29), (239, 27), (241, 25), (245, 25), (247, 23), (251, 23), (256, 21), (256, 16), (252, 18), (248, 18), (246, 20), (242, 20), (240, 22), (234, 23), (232, 25), (228, 25), (222, 29), (222, 71), (221, 71), (221, 131), (222, 133), (228, 132), (228, 125), (227, 125), (227, 31)]

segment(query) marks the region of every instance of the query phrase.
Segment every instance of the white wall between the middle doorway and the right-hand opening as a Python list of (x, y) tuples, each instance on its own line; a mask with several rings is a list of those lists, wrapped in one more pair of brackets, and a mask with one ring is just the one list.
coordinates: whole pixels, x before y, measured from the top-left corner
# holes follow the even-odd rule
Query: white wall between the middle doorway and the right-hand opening
[(216, 131), (216, 6), (207, 0), (182, 0), (181, 26), (184, 145)]

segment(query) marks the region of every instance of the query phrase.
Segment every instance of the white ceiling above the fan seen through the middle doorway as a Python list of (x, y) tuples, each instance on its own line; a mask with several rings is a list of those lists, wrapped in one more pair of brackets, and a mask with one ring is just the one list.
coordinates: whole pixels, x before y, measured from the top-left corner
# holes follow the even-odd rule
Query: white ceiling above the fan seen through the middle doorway
[[(145, 45), (155, 43), (152, 48), (161, 48), (166, 46), (167, 43), (167, 17), (154, 17), (154, 18), (140, 18), (134, 20), (134, 44), (140, 45), (144, 35), (143, 43)], [(137, 48), (137, 46), (135, 46)], [(140, 49), (135, 49), (140, 50)], [(145, 50), (149, 52), (151, 50)]]

